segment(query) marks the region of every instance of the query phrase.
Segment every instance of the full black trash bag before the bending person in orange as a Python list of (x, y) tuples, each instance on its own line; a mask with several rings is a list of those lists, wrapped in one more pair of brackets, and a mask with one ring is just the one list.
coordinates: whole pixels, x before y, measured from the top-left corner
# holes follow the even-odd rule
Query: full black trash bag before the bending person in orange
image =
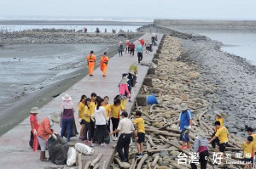
[(59, 134), (55, 134), (57, 140), (53, 137), (48, 139), (49, 161), (56, 165), (63, 165), (67, 163), (68, 144), (64, 138)]

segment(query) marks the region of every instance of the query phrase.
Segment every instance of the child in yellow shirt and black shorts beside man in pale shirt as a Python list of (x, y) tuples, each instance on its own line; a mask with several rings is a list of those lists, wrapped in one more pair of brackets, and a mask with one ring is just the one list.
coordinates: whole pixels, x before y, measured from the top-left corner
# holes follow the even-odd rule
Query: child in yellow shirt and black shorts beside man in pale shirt
[(137, 125), (137, 157), (143, 156), (143, 142), (145, 141), (145, 121), (142, 112), (136, 111), (136, 119), (133, 121)]

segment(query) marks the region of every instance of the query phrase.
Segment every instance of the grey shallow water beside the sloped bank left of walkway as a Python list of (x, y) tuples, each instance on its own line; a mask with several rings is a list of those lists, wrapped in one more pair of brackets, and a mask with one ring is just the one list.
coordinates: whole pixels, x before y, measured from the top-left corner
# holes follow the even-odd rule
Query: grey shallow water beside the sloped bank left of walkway
[(15, 104), (10, 100), (36, 92), (84, 68), (85, 57), (91, 49), (97, 53), (108, 46), (26, 44), (0, 48), (0, 110)]

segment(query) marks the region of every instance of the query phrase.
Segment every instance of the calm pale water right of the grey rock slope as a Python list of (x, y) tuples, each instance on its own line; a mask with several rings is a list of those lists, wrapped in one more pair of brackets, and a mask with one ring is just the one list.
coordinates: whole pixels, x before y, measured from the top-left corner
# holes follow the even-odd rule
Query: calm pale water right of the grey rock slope
[(213, 40), (224, 43), (221, 48), (230, 54), (236, 54), (246, 58), (256, 65), (256, 32), (241, 31), (193, 31), (196, 34), (205, 35)]

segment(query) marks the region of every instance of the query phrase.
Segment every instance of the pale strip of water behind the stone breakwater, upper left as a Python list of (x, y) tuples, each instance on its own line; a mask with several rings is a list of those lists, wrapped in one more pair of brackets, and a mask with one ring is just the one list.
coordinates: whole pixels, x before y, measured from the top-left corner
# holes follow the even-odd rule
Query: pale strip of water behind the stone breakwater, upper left
[(32, 29), (74, 29), (76, 31), (84, 30), (84, 26), (87, 28), (88, 32), (95, 32), (96, 28), (104, 32), (112, 32), (112, 30), (119, 31), (133, 31), (135, 32), (141, 25), (0, 25), (0, 32), (12, 32), (12, 31), (26, 31)]

